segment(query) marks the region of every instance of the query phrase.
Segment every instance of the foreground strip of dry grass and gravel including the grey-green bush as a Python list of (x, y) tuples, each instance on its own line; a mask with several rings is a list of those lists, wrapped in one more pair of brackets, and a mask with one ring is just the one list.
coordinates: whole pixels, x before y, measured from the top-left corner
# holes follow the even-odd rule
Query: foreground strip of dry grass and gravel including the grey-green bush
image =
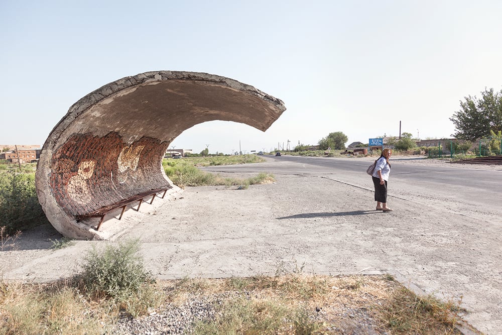
[(119, 320), (184, 310), (191, 301), (209, 311), (190, 312), (183, 327), (194, 334), (460, 333), (460, 301), (417, 296), (389, 275), (310, 275), (279, 266), (275, 276), (156, 282), (138, 250), (136, 240), (93, 249), (81, 273), (62, 282), (0, 281), (0, 334), (117, 333)]

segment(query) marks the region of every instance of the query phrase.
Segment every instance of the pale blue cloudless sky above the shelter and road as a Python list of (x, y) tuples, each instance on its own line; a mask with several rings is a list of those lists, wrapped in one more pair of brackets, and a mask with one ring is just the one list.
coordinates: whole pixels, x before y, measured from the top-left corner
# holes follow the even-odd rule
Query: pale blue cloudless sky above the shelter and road
[(176, 148), (231, 153), (442, 138), (464, 96), (502, 88), (502, 1), (0, 0), (0, 144), (42, 145), (102, 85), (155, 70), (229, 77), (280, 98), (267, 132), (214, 121)]

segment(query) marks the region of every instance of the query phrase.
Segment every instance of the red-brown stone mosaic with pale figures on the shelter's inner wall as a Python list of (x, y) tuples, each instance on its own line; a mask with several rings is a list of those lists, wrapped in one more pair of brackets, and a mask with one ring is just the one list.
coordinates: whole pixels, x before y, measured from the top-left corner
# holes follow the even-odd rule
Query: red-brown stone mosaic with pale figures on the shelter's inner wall
[(169, 187), (159, 166), (168, 144), (148, 137), (124, 142), (115, 132), (74, 134), (52, 156), (53, 195), (68, 214), (79, 215)]

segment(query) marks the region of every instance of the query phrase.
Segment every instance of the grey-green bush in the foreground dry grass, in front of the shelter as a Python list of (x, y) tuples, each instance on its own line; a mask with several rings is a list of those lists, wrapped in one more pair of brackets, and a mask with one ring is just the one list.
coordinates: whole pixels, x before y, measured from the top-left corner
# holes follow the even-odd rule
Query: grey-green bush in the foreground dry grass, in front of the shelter
[(152, 276), (137, 256), (139, 241), (119, 243), (117, 247), (106, 246), (103, 251), (93, 248), (85, 257), (80, 275), (85, 291), (90, 296), (112, 297), (127, 301), (137, 296)]

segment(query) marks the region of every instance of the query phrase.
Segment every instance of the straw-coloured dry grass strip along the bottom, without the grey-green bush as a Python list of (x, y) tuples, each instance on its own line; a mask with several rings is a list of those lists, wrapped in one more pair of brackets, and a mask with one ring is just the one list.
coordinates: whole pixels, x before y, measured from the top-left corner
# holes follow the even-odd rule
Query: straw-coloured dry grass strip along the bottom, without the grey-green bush
[[(196, 334), (459, 334), (460, 302), (419, 297), (390, 276), (181, 279), (152, 284), (163, 304), (222, 297), (212, 319), (196, 320)], [(100, 334), (123, 312), (112, 300), (90, 298), (71, 283), (0, 282), (0, 334)], [(149, 307), (149, 308), (146, 308)]]

